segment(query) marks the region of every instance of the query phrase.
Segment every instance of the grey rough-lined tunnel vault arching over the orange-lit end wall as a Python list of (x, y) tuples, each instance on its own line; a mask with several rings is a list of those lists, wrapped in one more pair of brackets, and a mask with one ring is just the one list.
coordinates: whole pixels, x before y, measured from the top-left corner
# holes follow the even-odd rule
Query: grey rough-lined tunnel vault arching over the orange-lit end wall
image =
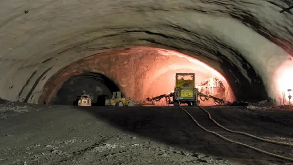
[(63, 67), (109, 49), (133, 46), (177, 50), (211, 65), (242, 91), (251, 90), (246, 84), (259, 83), (275, 97), (273, 74), (293, 52), (293, 15), (279, 11), (292, 4), (279, 0), (4, 1), (0, 97), (36, 102), (46, 81)]

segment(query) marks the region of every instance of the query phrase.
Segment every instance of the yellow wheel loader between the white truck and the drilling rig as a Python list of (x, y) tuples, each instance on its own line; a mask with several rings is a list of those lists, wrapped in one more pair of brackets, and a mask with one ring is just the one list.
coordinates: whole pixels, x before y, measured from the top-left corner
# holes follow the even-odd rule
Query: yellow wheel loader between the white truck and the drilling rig
[(139, 103), (128, 97), (125, 97), (124, 92), (113, 92), (112, 99), (105, 100), (105, 106), (138, 106)]

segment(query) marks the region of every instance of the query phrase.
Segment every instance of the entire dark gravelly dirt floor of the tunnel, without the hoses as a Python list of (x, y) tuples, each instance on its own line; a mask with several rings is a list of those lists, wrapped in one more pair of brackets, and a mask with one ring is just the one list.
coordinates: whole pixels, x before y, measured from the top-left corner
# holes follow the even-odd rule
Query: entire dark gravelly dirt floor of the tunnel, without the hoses
[[(293, 158), (293, 148), (233, 134), (197, 107), (198, 122), (232, 140)], [(293, 143), (293, 111), (205, 107), (220, 124)], [(0, 104), (0, 164), (293, 164), (231, 144), (178, 107)]]

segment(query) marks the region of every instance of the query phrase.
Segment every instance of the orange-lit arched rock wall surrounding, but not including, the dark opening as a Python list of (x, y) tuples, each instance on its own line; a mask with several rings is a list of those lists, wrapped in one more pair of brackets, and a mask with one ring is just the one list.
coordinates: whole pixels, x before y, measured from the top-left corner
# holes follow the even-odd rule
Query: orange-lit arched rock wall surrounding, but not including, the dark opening
[[(44, 85), (39, 103), (52, 104), (54, 96), (58, 95), (58, 90), (70, 77), (88, 72), (105, 75), (115, 82), (127, 97), (142, 103), (146, 103), (147, 97), (173, 91), (176, 72), (196, 73), (198, 84), (209, 77), (216, 77), (223, 81), (226, 90), (228, 89), (229, 94), (225, 94), (229, 95), (227, 101), (235, 101), (237, 97), (242, 97), (239, 94), (235, 95), (235, 83), (232, 81), (230, 84), (230, 79), (225, 79), (227, 75), (222, 74), (223, 70), (215, 70), (215, 66), (208, 66), (191, 55), (155, 47), (137, 46), (108, 50), (79, 59), (56, 72)], [(164, 83), (158, 83), (158, 80), (166, 81), (168, 88), (164, 88)], [(156, 81), (157, 83), (154, 83)]]

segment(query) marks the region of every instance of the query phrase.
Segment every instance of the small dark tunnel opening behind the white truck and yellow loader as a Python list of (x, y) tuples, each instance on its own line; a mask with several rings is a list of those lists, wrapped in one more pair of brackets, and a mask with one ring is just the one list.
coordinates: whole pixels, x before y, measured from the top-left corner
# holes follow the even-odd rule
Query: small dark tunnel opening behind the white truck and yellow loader
[(120, 91), (111, 79), (100, 73), (84, 72), (70, 77), (53, 96), (51, 104), (77, 105), (82, 94), (92, 95), (92, 106), (104, 106), (105, 99)]

